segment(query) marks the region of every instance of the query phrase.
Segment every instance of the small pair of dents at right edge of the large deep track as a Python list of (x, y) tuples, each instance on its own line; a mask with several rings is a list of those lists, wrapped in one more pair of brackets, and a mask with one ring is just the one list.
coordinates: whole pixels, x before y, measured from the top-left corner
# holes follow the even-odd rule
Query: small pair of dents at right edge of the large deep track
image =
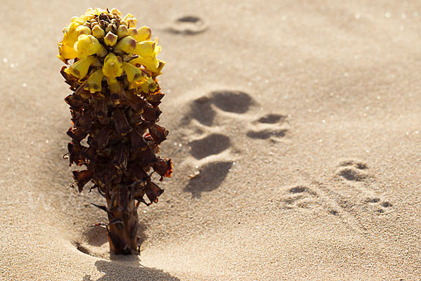
[(281, 141), (281, 138), (288, 133), (286, 119), (286, 115), (273, 113), (260, 117), (252, 123), (253, 129), (247, 132), (247, 136), (261, 140)]

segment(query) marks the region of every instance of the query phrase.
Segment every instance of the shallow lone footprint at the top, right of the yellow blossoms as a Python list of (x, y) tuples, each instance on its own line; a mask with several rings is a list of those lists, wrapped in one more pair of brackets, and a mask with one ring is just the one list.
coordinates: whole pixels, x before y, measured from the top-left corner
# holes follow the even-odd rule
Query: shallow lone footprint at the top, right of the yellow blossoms
[(201, 18), (195, 15), (186, 15), (174, 20), (166, 31), (172, 34), (194, 35), (204, 32), (206, 29), (208, 29), (208, 25)]

